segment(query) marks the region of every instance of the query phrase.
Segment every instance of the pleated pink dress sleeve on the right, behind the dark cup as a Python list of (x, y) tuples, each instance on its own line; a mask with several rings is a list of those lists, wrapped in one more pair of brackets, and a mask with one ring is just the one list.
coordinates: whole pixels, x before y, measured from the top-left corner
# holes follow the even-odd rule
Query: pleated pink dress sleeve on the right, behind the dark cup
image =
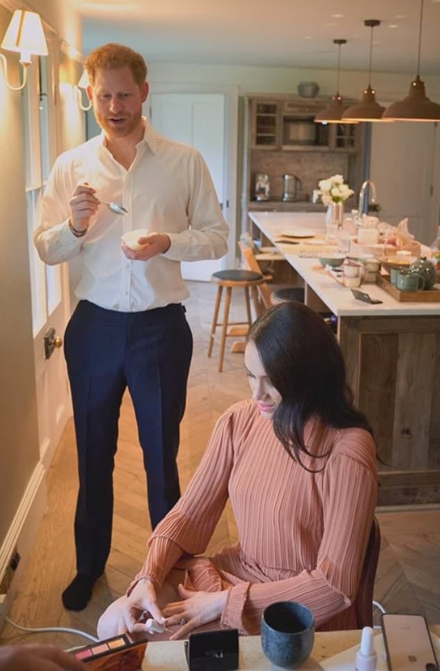
[[(323, 537), (316, 567), (280, 581), (264, 584), (243, 581), (233, 586), (223, 609), (221, 626), (237, 627), (242, 634), (255, 634), (266, 606), (276, 601), (299, 601), (312, 610), (319, 627), (353, 602), (378, 487), (373, 439), (366, 432), (362, 434), (357, 441), (348, 439), (347, 449), (330, 457), (325, 468)], [(361, 456), (350, 456), (350, 447), (361, 452)]]

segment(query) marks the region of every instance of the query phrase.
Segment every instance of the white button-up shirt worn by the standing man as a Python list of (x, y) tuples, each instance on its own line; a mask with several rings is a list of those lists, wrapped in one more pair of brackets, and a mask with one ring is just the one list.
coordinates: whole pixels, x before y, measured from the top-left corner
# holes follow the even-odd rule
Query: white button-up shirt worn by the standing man
[[(203, 158), (144, 123), (128, 170), (112, 157), (103, 133), (57, 158), (34, 235), (47, 264), (75, 260), (79, 299), (121, 312), (180, 303), (189, 296), (180, 262), (219, 259), (227, 251), (228, 225)], [(130, 214), (101, 205), (87, 234), (77, 238), (69, 228), (69, 201), (84, 182), (96, 189), (96, 198), (121, 203)], [(148, 261), (127, 259), (121, 235), (136, 228), (167, 233), (169, 250)]]

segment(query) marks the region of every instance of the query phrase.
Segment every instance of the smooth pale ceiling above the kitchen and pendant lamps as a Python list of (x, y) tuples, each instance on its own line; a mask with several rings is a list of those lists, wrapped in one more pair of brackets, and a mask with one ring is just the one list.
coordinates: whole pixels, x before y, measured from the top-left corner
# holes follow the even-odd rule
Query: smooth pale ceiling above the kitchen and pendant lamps
[[(148, 62), (415, 73), (421, 0), (69, 0), (83, 16), (83, 51), (128, 44)], [(421, 75), (440, 74), (440, 0), (424, 0)]]

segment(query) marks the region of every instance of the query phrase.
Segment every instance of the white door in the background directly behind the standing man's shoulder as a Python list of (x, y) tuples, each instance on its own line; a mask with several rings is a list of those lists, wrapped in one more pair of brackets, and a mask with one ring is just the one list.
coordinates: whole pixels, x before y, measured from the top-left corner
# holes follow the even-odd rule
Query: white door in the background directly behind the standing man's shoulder
[[(225, 169), (225, 96), (223, 94), (155, 93), (147, 105), (153, 128), (161, 135), (184, 142), (200, 151), (227, 217)], [(224, 258), (224, 257), (223, 257)], [(223, 268), (223, 260), (182, 264), (186, 280), (209, 281)]]

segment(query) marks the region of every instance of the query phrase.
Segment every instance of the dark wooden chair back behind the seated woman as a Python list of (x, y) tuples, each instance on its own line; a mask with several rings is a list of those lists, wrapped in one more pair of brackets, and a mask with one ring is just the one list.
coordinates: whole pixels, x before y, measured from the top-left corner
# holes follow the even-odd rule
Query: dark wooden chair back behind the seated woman
[(373, 588), (380, 552), (380, 526), (373, 517), (373, 525), (366, 546), (361, 579), (355, 598), (357, 629), (373, 627)]

